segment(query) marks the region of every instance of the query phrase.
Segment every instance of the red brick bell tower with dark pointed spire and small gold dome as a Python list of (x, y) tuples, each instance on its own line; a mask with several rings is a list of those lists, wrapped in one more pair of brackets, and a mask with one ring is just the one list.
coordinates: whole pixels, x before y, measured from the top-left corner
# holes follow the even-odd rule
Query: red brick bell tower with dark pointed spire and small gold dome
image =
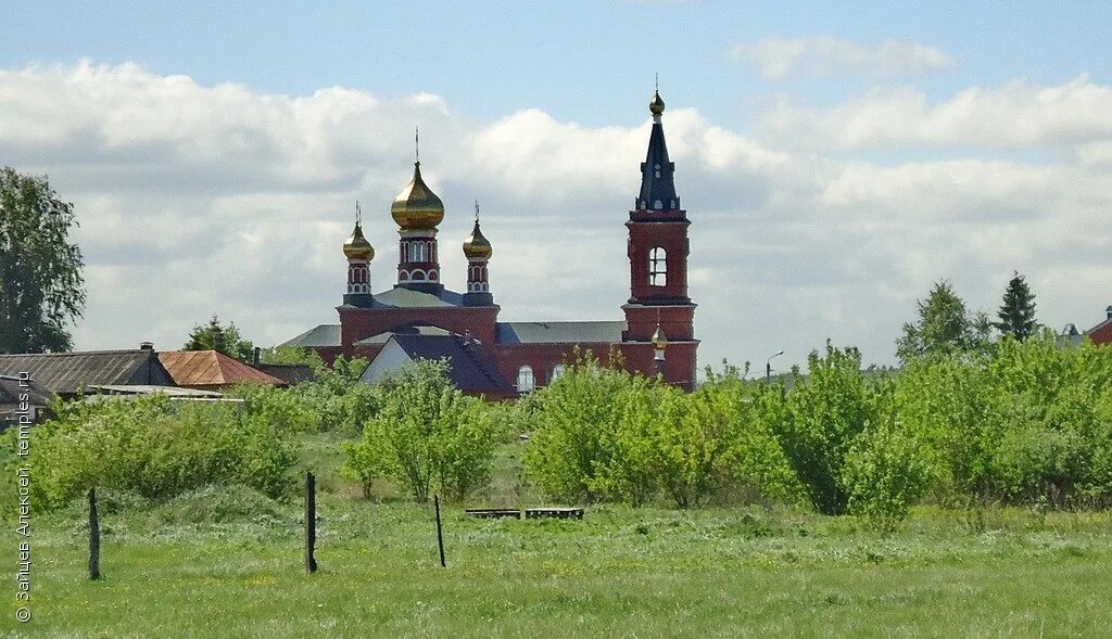
[(626, 314), (623, 341), (645, 342), (651, 349), (653, 336), (663, 329), (668, 336), (669, 359), (665, 379), (689, 388), (694, 386), (698, 343), (694, 337), (696, 304), (687, 297), (691, 220), (676, 194), (676, 164), (668, 158), (664, 139), (664, 100), (659, 91), (653, 93), (648, 110), (653, 130), (641, 164), (641, 191), (626, 222), (629, 300), (622, 307)]

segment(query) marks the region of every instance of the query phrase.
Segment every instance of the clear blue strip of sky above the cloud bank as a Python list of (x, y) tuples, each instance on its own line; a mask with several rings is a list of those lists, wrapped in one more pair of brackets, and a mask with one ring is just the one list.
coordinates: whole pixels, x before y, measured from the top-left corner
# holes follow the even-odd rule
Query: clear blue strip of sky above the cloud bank
[[(763, 37), (834, 33), (924, 42), (957, 59), (931, 97), (1016, 78), (1056, 83), (1112, 70), (1112, 3), (1064, 2), (23, 2), (0, 41), (8, 66), (139, 62), (201, 83), (307, 94), (344, 86), (434, 92), (493, 118), (542, 107), (588, 126), (639, 114), (653, 73), (679, 103), (747, 124), (767, 93), (836, 101), (836, 78), (768, 82), (729, 60)], [(631, 98), (636, 98), (632, 100)], [(628, 117), (628, 116), (626, 116)]]

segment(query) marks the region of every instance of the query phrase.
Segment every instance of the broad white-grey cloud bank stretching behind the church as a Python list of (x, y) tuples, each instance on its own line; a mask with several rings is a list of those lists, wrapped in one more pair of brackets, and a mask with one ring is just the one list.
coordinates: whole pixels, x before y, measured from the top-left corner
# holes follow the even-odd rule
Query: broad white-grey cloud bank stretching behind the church
[[(1021, 93), (1099, 104), (1108, 91), (1084, 80)], [(389, 202), (409, 178), (416, 124), (421, 168), (448, 208), (439, 238), (449, 287), (463, 284), (459, 242), (478, 198), (503, 319), (620, 319), (628, 297), (624, 222), (647, 118), (589, 128), (525, 110), (475, 123), (433, 94), (266, 94), (90, 62), (0, 71), (0, 158), (49, 173), (81, 220), (89, 306), (79, 348), (176, 347), (212, 312), (261, 343), (335, 322), (356, 199), (378, 250), (376, 288), (387, 288)], [(969, 151), (881, 166), (821, 144), (794, 150), (813, 144), (811, 129), (777, 129), (763, 143), (692, 108), (669, 109), (665, 128), (693, 220), (703, 363), (784, 348), (785, 366), (826, 337), (888, 362), (914, 299), (940, 278), (992, 309), (1019, 269), (1055, 326), (1095, 323), (1112, 301), (1112, 240), (1093, 232), (1112, 210), (1112, 154), (1099, 140), (1044, 160)]]

